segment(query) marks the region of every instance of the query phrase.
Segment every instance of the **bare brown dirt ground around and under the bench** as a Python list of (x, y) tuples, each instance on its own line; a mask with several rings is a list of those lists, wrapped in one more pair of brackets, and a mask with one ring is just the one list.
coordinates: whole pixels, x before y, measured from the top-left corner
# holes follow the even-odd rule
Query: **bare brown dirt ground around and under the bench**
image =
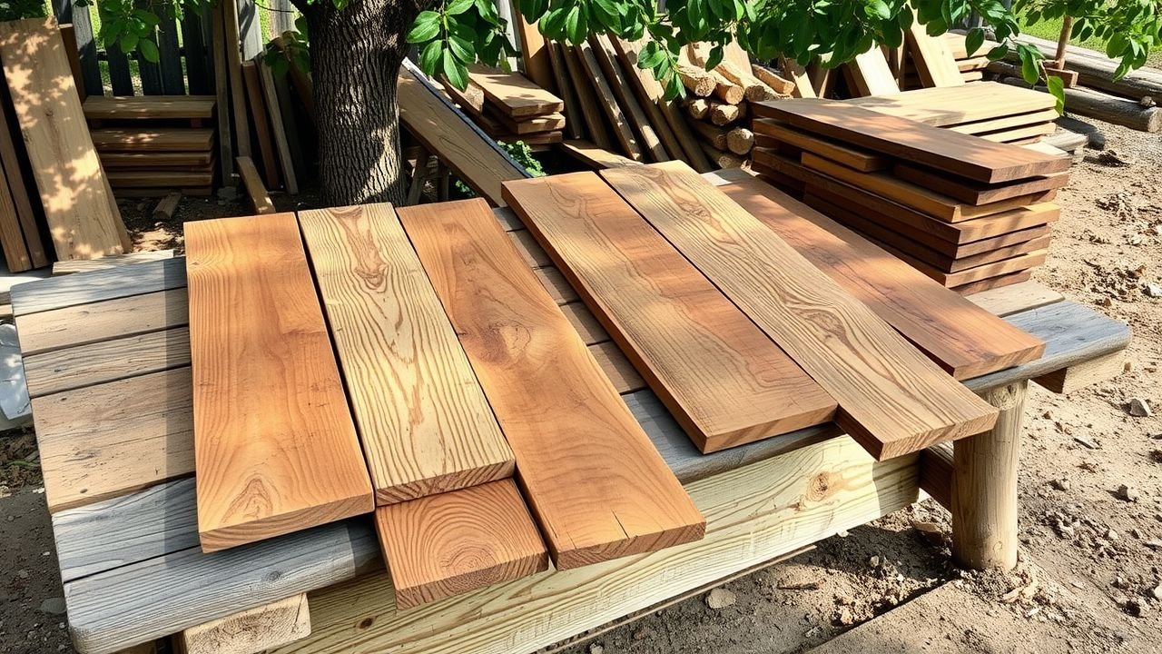
[[(948, 513), (927, 500), (564, 652), (1162, 651), (1162, 137), (1099, 127), (1106, 151), (1074, 166), (1035, 278), (1128, 321), (1134, 341), (1112, 382), (1031, 386), (1016, 571), (953, 568)], [(244, 213), (218, 199), (187, 199), (165, 223), (152, 202), (122, 211), (148, 248), (180, 247), (182, 220)], [(1155, 415), (1132, 417), (1133, 398)], [(71, 651), (35, 452), (29, 433), (0, 435), (0, 653)]]

